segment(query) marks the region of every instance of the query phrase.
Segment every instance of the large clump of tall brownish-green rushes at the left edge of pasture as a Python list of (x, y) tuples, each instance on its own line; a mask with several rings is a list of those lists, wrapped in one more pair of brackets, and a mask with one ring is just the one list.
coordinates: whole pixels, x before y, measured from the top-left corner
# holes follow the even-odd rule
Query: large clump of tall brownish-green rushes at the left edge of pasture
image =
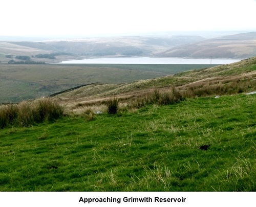
[(62, 117), (63, 112), (64, 107), (50, 98), (7, 105), (0, 108), (0, 128), (53, 121)]

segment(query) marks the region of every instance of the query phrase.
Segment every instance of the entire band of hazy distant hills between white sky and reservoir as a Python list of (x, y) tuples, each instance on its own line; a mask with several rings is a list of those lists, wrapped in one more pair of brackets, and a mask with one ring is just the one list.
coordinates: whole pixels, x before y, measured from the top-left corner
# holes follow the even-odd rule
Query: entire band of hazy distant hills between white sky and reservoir
[[(62, 55), (58, 55), (55, 59), (36, 56), (56, 53)], [(210, 39), (198, 35), (148, 35), (45, 41), (0, 41), (1, 63), (8, 63), (10, 60), (6, 58), (6, 55), (28, 55), (31, 56), (32, 61), (46, 63), (98, 57), (245, 59), (256, 56), (256, 32)]]

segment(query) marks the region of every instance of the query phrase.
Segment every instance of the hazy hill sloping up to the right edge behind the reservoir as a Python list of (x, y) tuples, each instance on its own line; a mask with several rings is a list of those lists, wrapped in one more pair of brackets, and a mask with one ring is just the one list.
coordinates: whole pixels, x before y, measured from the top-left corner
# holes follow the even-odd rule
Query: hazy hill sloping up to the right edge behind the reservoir
[(256, 32), (198, 41), (156, 54), (160, 57), (233, 58), (256, 56)]

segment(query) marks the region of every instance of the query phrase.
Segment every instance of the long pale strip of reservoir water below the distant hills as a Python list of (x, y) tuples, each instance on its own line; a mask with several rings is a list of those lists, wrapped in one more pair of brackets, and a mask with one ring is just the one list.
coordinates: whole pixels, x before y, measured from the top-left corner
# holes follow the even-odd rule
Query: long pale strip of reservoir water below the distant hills
[(187, 58), (150, 58), (150, 57), (115, 57), (68, 60), (60, 64), (229, 64), (238, 59), (187, 59)]

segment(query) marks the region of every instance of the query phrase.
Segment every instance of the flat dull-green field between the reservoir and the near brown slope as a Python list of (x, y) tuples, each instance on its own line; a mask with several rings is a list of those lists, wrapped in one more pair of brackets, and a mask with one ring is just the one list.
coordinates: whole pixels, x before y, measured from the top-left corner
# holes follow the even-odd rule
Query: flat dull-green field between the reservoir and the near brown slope
[(15, 103), (95, 82), (127, 83), (214, 65), (0, 64), (0, 103)]

